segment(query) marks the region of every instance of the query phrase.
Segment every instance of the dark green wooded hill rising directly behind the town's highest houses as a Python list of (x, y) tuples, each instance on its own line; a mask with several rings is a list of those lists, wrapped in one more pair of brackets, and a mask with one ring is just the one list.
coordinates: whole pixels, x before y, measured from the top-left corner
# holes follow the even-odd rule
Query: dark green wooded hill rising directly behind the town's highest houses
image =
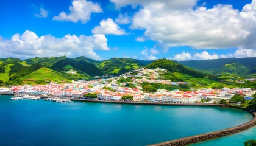
[(204, 77), (204, 74), (202, 74), (201, 72), (198, 72), (194, 69), (188, 68), (186, 66), (183, 66), (182, 64), (179, 64), (167, 59), (155, 60), (153, 63), (149, 64), (145, 68), (149, 68), (149, 69), (162, 68), (162, 69), (166, 69), (169, 72), (179, 72), (179, 73), (192, 75), (194, 77), (202, 77), (202, 78)]

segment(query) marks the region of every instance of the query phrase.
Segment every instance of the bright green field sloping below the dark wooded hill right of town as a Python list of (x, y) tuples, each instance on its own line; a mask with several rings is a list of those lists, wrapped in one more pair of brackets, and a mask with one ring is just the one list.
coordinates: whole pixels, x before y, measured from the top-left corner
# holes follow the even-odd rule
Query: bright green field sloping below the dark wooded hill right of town
[(202, 88), (202, 87), (211, 87), (211, 86), (218, 86), (218, 85), (222, 85), (222, 86), (227, 86), (227, 87), (233, 87), (232, 85), (226, 85), (226, 84), (222, 84), (219, 83), (215, 80), (209, 80), (207, 78), (197, 78), (197, 77), (193, 77), (191, 75), (188, 74), (183, 74), (183, 73), (178, 73), (178, 72), (174, 72), (174, 76), (176, 78), (180, 78), (185, 82), (188, 83), (194, 83), (196, 86)]

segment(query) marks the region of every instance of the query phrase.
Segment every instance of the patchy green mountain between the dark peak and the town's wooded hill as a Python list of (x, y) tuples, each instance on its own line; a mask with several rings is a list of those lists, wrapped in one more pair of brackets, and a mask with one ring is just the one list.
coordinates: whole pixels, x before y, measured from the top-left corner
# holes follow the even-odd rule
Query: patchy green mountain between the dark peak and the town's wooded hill
[(98, 67), (106, 74), (120, 75), (134, 69), (141, 68), (145, 64), (140, 60), (131, 58), (111, 58), (110, 60), (102, 61)]

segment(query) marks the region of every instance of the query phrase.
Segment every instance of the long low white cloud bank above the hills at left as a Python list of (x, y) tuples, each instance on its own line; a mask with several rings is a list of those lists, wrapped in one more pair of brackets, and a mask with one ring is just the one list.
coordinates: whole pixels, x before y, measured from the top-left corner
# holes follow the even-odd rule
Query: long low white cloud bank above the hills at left
[(67, 57), (85, 57), (101, 59), (94, 50), (110, 50), (105, 35), (65, 35), (56, 38), (52, 35), (37, 34), (26, 30), (22, 35), (16, 33), (10, 40), (0, 40), (0, 57), (52, 57), (66, 55)]

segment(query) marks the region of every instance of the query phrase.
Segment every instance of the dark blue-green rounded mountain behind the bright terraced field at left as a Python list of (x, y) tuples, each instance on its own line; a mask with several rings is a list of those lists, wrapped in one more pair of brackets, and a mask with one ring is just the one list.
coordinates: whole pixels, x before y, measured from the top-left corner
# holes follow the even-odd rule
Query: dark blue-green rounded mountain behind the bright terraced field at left
[(91, 77), (105, 75), (101, 69), (97, 68), (94, 64), (85, 61), (77, 61), (71, 58), (66, 58), (65, 60), (57, 61), (51, 66), (51, 69), (56, 71), (69, 71), (74, 69), (81, 74), (87, 74)]

